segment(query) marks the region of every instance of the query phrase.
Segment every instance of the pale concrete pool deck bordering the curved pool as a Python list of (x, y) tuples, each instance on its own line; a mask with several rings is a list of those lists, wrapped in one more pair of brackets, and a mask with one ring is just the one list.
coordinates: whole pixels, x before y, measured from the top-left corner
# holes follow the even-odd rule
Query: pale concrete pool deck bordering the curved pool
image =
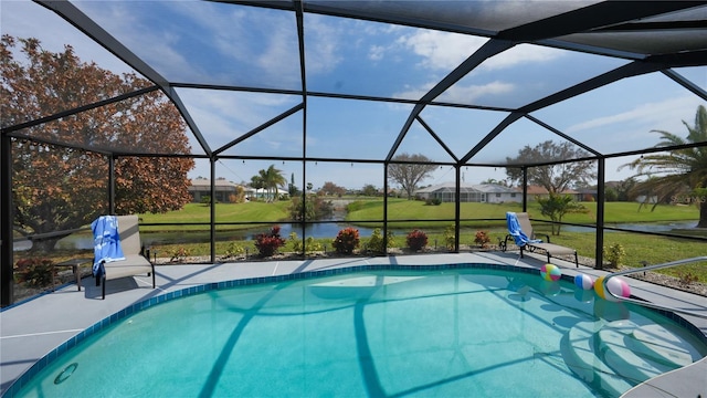
[[(329, 258), (318, 260), (254, 261), (223, 264), (179, 264), (157, 266), (157, 289), (147, 276), (109, 281), (106, 300), (92, 279), (84, 279), (82, 291), (67, 284), (53, 293), (10, 306), (0, 312), (0, 392), (50, 350), (72, 336), (114, 313), (146, 298), (205, 283), (250, 277), (286, 275), (357, 265), (434, 265), (451, 263), (490, 263), (539, 269), (545, 258), (517, 252), (474, 252), (449, 254), (390, 255), (369, 258)], [(600, 276), (605, 272), (573, 263), (552, 260), (563, 274), (576, 272)], [(630, 280), (631, 293), (652, 303), (707, 314), (707, 297)], [(707, 320), (680, 315), (707, 335)], [(627, 398), (707, 397), (707, 358), (688, 367), (664, 374), (624, 394)]]

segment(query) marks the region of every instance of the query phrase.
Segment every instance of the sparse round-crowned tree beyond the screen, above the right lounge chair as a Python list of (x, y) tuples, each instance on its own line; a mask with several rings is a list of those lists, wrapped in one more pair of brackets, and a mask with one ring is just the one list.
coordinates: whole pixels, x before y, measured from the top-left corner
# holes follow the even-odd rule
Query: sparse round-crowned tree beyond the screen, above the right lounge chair
[[(526, 145), (515, 158), (507, 157), (509, 165), (534, 165), (551, 160), (571, 160), (587, 157), (589, 154), (576, 148), (571, 143), (556, 144), (551, 140), (540, 143), (535, 147)], [(506, 167), (506, 175), (516, 184), (523, 181), (523, 170), (518, 167)], [(597, 179), (592, 160), (569, 161), (558, 165), (528, 167), (528, 181), (547, 189), (549, 192), (560, 193), (571, 185), (588, 185)]]

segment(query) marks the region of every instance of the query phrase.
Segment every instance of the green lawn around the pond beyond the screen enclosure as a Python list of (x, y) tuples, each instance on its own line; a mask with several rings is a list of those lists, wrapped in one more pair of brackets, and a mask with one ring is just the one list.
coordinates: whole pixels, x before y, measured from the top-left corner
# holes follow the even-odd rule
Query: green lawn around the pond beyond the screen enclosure
[[(572, 213), (567, 214), (563, 221), (571, 223), (594, 223), (597, 206), (592, 202), (583, 203), (588, 208), (585, 213)], [(258, 221), (263, 224), (275, 224), (281, 222), (288, 222), (289, 213), (287, 208), (288, 201), (276, 201), (272, 203), (265, 202), (246, 202), (246, 203), (218, 203), (215, 206), (217, 222), (219, 223), (239, 223), (249, 221)], [(477, 230), (487, 230), (492, 238), (490, 243), (495, 244), (499, 239), (504, 239), (506, 235), (505, 216), (506, 211), (521, 211), (519, 203), (461, 203), (461, 218), (462, 219), (478, 219), (474, 221), (464, 221), (462, 223), (463, 231), (460, 242), (463, 245), (473, 245), (474, 235)], [(534, 219), (546, 219), (540, 214), (540, 210), (537, 203), (529, 203), (528, 212), (530, 212)], [(163, 231), (204, 231), (209, 229), (211, 208), (200, 203), (189, 203), (184, 209), (179, 211), (170, 211), (165, 214), (140, 214), (140, 231), (149, 232), (163, 232)], [(419, 228), (425, 230), (429, 237), (429, 247), (432, 248), (435, 244), (439, 248), (444, 247), (444, 228), (452, 226), (453, 221), (412, 221), (403, 222), (395, 220), (440, 220), (440, 219), (454, 219), (455, 208), (454, 203), (442, 203), (440, 206), (426, 206), (422, 201), (410, 201), (405, 199), (389, 199), (388, 202), (388, 219), (390, 228), (412, 230)], [(374, 200), (356, 200), (349, 205), (349, 213), (347, 221), (356, 223), (357, 221), (365, 220), (380, 220), (383, 217), (383, 202), (382, 199)], [(650, 209), (640, 209), (637, 203), (633, 202), (610, 202), (605, 206), (605, 222), (606, 223), (633, 223), (633, 222), (662, 222), (662, 221), (684, 221), (684, 220), (697, 220), (699, 212), (695, 207), (679, 207), (679, 206), (658, 206), (655, 211)], [(496, 220), (496, 221), (493, 221)], [(147, 226), (155, 223), (158, 226)], [(186, 224), (186, 223), (204, 223), (202, 226)], [(159, 226), (162, 224), (162, 226)], [(172, 226), (177, 224), (177, 226)], [(535, 222), (538, 232), (550, 233), (550, 226), (542, 222)], [(219, 231), (230, 231), (252, 228), (249, 224), (218, 224)], [(284, 237), (289, 238), (289, 237)], [(333, 251), (330, 238), (320, 238), (315, 241), (321, 244), (326, 244), (327, 251)], [(367, 238), (362, 238), (363, 245), (368, 241)], [(552, 237), (553, 243), (572, 247), (578, 250), (578, 253), (582, 256), (595, 258), (595, 235), (588, 232), (570, 232), (562, 231), (560, 235)], [(404, 234), (398, 233), (395, 235), (395, 247), (402, 248), (405, 245)], [(645, 261), (648, 264), (657, 264), (667, 261), (674, 261), (678, 259), (699, 256), (705, 254), (705, 243), (697, 241), (689, 241), (685, 239), (673, 239), (663, 237), (652, 237), (639, 233), (627, 232), (606, 232), (604, 234), (604, 245), (621, 244), (626, 256), (622, 264), (629, 266), (641, 266), (641, 262)], [(230, 242), (218, 241), (215, 242), (217, 255), (222, 256), (224, 253), (233, 250), (245, 251), (247, 248), (249, 253), (254, 254), (255, 248), (252, 241)], [(184, 249), (190, 255), (210, 255), (211, 245), (209, 242), (202, 243), (183, 243), (183, 244), (157, 244), (154, 249), (158, 250), (159, 255), (162, 258), (170, 258), (179, 251)], [(293, 242), (287, 239), (287, 243), (281, 249), (281, 252), (293, 251)], [(81, 255), (91, 256), (89, 251), (80, 253)], [(17, 253), (15, 258), (21, 258), (22, 254)], [(72, 256), (76, 256), (76, 251), (73, 253), (66, 251), (55, 251), (49, 256), (55, 261), (63, 261)], [(683, 265), (678, 268), (666, 269), (662, 272), (672, 274), (678, 277), (697, 277), (700, 282), (707, 283), (707, 268), (704, 263), (695, 263), (689, 265)]]

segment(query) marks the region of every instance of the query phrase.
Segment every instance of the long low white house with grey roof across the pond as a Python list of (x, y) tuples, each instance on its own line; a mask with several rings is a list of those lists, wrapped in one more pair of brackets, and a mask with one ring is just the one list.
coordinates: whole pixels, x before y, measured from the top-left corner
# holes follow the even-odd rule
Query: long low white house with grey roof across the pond
[[(443, 202), (456, 201), (454, 182), (443, 182), (431, 187), (415, 190), (415, 197), (428, 199), (440, 199)], [(517, 188), (504, 187), (496, 184), (464, 184), (460, 186), (460, 201), (481, 203), (504, 203), (520, 202), (523, 195)]]

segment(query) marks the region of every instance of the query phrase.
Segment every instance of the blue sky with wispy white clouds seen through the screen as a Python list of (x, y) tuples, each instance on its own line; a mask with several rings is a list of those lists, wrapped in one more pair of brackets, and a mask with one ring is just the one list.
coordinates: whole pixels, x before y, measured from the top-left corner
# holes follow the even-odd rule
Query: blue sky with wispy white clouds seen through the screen
[[(296, 23), (292, 12), (193, 1), (84, 1), (75, 3), (162, 76), (181, 83), (300, 90)], [(115, 73), (131, 69), (53, 12), (29, 1), (0, 2), (2, 34), (38, 38), (59, 52), (71, 43), (84, 61)], [(418, 100), (479, 49), (485, 38), (386, 23), (305, 14), (306, 82), (309, 92)], [(516, 107), (611, 71), (626, 61), (521, 44), (488, 59), (455, 83), (439, 101), (489, 107)], [(677, 70), (707, 90), (707, 67)], [(211, 149), (220, 148), (302, 102), (297, 95), (176, 88)], [(652, 130), (685, 136), (693, 124), (696, 95), (663, 74), (625, 78), (532, 114), (602, 154), (646, 148)], [(309, 97), (299, 111), (239, 145), (234, 156), (307, 156), (329, 159), (383, 159), (410, 115), (411, 105)], [(435, 161), (461, 158), (507, 115), (505, 112), (428, 106), (420, 117), (452, 151), (450, 155), (419, 122), (395, 154), (422, 154)], [(306, 118), (306, 147), (303, 124)], [(190, 134), (191, 136), (191, 134)], [(472, 160), (503, 164), (524, 146), (563, 139), (528, 119), (506, 128)], [(191, 138), (193, 153), (203, 153)], [(633, 157), (608, 159), (606, 179), (632, 175), (621, 165)], [(383, 186), (376, 165), (338, 161), (307, 164), (221, 159), (217, 177), (249, 181), (275, 165), (302, 187), (325, 181), (357, 189)], [(209, 177), (209, 163), (197, 161), (190, 177)], [(462, 179), (502, 180), (504, 167), (464, 167)], [(454, 169), (437, 168), (423, 185), (453, 181)]]

